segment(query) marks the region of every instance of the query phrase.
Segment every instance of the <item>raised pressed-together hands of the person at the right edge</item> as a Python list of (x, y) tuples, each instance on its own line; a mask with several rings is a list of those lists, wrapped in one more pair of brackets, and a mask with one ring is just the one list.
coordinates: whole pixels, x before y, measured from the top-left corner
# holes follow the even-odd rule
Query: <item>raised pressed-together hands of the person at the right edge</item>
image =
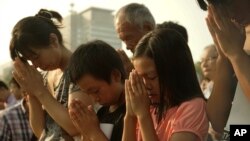
[(209, 5), (206, 21), (219, 55), (231, 57), (243, 52), (245, 34), (222, 9), (220, 6)]

